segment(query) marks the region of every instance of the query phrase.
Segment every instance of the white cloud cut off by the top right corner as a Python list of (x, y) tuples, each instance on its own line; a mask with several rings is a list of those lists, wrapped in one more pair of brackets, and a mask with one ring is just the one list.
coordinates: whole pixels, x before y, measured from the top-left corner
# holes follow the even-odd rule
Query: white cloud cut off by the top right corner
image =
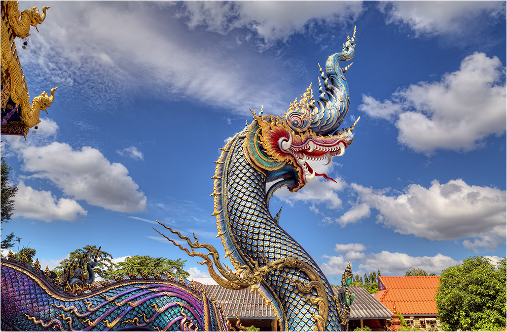
[(481, 13), (505, 15), (501, 1), (386, 1), (378, 7), (387, 14), (387, 23), (407, 24), (417, 35), (459, 33)]

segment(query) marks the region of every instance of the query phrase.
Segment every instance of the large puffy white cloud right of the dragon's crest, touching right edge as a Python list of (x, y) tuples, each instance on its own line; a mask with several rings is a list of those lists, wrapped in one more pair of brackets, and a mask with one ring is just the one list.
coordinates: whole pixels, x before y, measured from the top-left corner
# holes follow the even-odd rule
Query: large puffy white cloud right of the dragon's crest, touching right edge
[(359, 109), (373, 117), (397, 118), (398, 141), (417, 152), (468, 151), (490, 135), (505, 133), (504, 77), (497, 57), (476, 52), (439, 82), (419, 82), (382, 103), (363, 96)]

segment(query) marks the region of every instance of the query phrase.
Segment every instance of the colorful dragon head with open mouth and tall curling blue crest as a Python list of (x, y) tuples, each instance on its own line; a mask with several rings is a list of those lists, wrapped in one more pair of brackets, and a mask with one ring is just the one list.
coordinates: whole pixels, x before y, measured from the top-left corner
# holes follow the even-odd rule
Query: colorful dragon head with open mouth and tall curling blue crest
[[(287, 186), (295, 192), (316, 176), (333, 180), (325, 174), (316, 173), (308, 161), (329, 159), (341, 156), (352, 143), (351, 127), (339, 130), (350, 104), (347, 81), (344, 73), (350, 68), (340, 68), (340, 61), (348, 61), (354, 56), (355, 28), (352, 38), (347, 37), (342, 52), (330, 56), (325, 65), (325, 74), (320, 68), (319, 100), (313, 99), (310, 87), (296, 99), (285, 116), (260, 115), (255, 112), (255, 120), (246, 133), (245, 152), (256, 167), (267, 174), (267, 181), (282, 179), (272, 187), (276, 190)], [(357, 122), (357, 121), (356, 121)], [(334, 180), (333, 180), (334, 181)]]

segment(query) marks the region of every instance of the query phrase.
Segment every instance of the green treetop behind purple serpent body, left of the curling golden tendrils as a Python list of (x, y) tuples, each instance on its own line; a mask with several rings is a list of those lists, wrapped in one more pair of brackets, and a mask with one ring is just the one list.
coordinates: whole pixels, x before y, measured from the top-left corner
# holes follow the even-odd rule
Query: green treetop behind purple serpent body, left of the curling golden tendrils
[(188, 277), (190, 273), (184, 270), (185, 262), (187, 261), (182, 261), (180, 258), (174, 261), (163, 257), (136, 255), (127, 257), (125, 261), (118, 263), (112, 270), (105, 273), (104, 278), (112, 279), (113, 275), (128, 276), (129, 273), (141, 275), (141, 272), (148, 275), (153, 275), (156, 272), (160, 275), (169, 273), (172, 276)]

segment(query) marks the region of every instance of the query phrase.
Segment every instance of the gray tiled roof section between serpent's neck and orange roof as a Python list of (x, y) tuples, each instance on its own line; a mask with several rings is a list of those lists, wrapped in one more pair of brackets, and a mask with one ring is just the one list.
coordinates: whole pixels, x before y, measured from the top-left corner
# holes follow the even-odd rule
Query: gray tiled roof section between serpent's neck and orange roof
[[(338, 296), (340, 287), (333, 287)], [(349, 319), (391, 319), (392, 313), (363, 287), (350, 287), (355, 299), (350, 305)]]

